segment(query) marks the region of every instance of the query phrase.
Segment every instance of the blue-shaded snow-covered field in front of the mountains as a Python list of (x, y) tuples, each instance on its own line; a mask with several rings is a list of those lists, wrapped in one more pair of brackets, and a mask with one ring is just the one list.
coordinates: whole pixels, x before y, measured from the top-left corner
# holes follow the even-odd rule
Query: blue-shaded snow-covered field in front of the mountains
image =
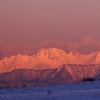
[(100, 100), (100, 81), (0, 89), (0, 100)]

